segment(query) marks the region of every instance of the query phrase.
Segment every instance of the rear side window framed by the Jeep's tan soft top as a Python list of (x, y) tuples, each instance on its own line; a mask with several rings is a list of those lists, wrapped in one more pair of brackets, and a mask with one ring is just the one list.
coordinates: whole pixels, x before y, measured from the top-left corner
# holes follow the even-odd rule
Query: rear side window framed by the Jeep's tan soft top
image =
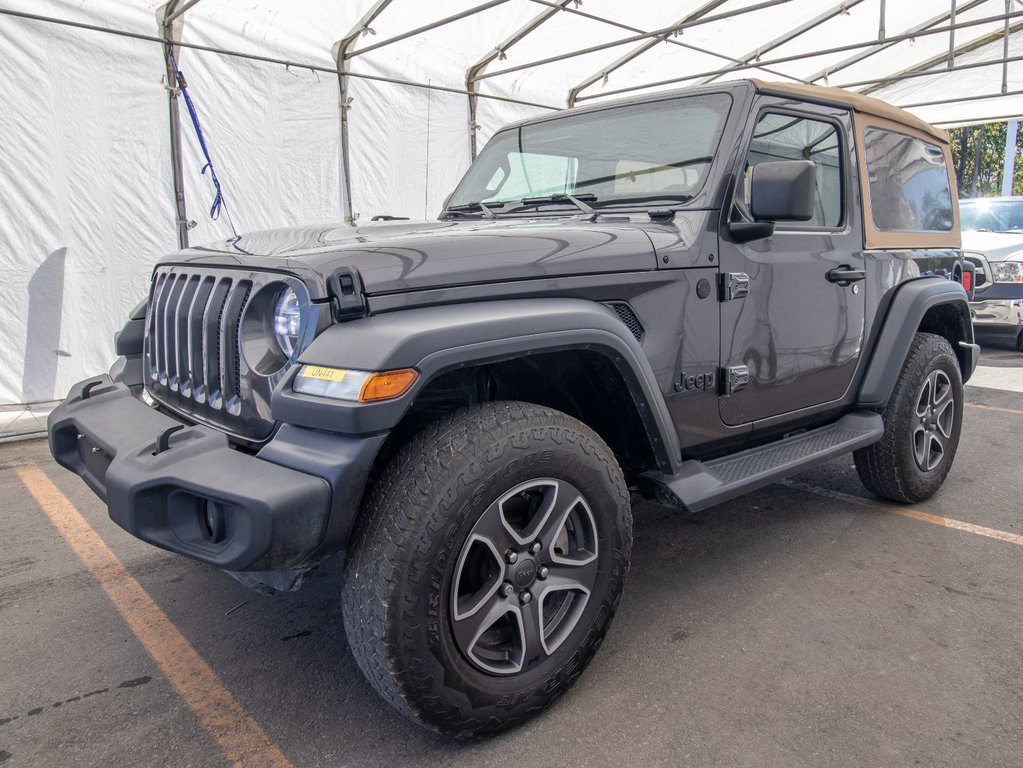
[(882, 128), (863, 131), (874, 226), (882, 232), (948, 232), (952, 193), (945, 154), (923, 139)]

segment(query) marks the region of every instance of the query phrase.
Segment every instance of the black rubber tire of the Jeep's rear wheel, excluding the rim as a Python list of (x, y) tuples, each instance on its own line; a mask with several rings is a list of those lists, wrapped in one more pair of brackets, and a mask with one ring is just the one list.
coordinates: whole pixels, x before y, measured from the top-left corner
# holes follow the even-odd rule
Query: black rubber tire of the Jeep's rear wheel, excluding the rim
[[(926, 388), (932, 374), (941, 379), (942, 386), (947, 381), (948, 394), (953, 399), (949, 406), (952, 420), (945, 436), (942, 425), (928, 417), (932, 434), (940, 439), (943, 451), (940, 458), (930, 452), (930, 460), (936, 463), (925, 468), (916, 454), (915, 434), (921, 434), (919, 411), (923, 407), (922, 398), (928, 397)], [(893, 501), (915, 503), (930, 498), (951, 468), (963, 426), (963, 378), (955, 353), (945, 338), (934, 333), (914, 336), (895, 389), (881, 415), (884, 437), (853, 453), (859, 480), (872, 493)], [(926, 431), (923, 437), (929, 440)]]

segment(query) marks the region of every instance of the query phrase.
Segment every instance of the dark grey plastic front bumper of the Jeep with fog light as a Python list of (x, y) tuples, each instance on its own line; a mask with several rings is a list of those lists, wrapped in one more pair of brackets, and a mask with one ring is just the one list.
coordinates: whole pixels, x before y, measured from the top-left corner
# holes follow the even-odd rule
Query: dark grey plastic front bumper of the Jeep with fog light
[(72, 388), (50, 451), (130, 534), (227, 571), (302, 570), (344, 546), (386, 436), (284, 425), (258, 454), (135, 399), (109, 376)]

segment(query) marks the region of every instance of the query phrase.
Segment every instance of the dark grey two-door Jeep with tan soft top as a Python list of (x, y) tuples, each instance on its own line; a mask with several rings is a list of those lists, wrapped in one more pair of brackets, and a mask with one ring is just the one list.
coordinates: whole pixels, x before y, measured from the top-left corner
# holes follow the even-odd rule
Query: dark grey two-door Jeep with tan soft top
[(161, 261), (51, 451), (249, 586), (344, 552), (375, 689), (494, 733), (599, 646), (631, 493), (699, 512), (850, 451), (938, 490), (978, 355), (951, 169), (911, 115), (758, 81), (511, 125), (436, 221)]

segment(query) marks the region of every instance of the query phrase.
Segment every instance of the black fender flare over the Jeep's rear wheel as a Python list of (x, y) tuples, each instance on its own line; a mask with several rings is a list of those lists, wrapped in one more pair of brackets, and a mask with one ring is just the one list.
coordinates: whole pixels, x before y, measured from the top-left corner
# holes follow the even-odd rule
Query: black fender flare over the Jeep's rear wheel
[[(866, 372), (859, 386), (856, 404), (862, 408), (883, 408), (888, 404), (909, 346), (928, 310), (942, 304), (952, 305), (964, 319), (966, 337), (955, 349), (966, 381), (976, 366), (978, 348), (973, 344), (973, 323), (966, 290), (944, 277), (909, 280), (894, 291), (888, 304), (881, 330), (876, 335)], [(954, 349), (955, 345), (953, 345)]]

